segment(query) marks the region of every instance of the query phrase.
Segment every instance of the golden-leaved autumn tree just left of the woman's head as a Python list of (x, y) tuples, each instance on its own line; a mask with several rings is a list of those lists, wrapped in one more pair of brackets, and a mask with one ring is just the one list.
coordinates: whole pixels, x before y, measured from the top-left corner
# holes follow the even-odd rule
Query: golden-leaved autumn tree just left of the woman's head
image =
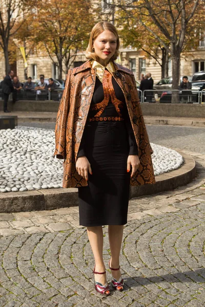
[(87, 46), (94, 25), (89, 0), (39, 0), (34, 14), (34, 41), (67, 73), (77, 51)]

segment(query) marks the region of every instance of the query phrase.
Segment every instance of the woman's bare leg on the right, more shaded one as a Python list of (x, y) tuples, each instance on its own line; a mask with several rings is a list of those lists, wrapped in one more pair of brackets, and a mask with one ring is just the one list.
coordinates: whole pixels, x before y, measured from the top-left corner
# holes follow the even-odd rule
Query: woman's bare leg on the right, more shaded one
[[(121, 250), (123, 231), (124, 231), (124, 225), (108, 226), (108, 234), (109, 234), (109, 242), (111, 250), (110, 267), (113, 269), (119, 268), (119, 254)], [(120, 270), (118, 271), (111, 270), (111, 273), (112, 276), (117, 280), (121, 276)]]

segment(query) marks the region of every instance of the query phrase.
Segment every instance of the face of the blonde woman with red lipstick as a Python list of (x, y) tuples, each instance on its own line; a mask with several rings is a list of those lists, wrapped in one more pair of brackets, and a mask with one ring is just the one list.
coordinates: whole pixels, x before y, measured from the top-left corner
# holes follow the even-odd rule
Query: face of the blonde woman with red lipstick
[(115, 53), (117, 38), (113, 32), (105, 30), (95, 38), (93, 47), (99, 58), (99, 63), (106, 66)]

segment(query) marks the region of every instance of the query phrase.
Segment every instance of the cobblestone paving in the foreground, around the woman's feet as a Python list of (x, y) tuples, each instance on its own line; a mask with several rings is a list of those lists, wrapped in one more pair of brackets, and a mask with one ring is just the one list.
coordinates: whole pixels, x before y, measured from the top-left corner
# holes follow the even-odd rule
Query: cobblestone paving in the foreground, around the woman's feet
[(126, 287), (109, 297), (94, 290), (77, 207), (0, 214), (0, 306), (205, 306), (205, 156), (185, 152), (197, 162), (192, 183), (130, 201), (120, 259)]

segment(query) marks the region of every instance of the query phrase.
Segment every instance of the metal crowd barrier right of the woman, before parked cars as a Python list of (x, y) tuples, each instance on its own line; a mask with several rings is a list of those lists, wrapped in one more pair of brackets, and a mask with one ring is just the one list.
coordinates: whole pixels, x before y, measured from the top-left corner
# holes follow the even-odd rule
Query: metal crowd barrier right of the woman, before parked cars
[(197, 90), (146, 90), (142, 102), (201, 103), (203, 95)]

